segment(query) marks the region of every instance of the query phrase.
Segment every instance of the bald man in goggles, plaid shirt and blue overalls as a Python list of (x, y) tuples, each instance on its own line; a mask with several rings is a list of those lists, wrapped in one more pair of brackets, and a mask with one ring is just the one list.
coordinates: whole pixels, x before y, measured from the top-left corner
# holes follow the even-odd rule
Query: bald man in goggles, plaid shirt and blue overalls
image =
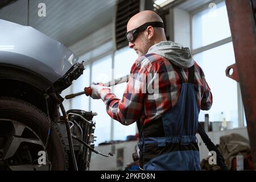
[(126, 39), (138, 54), (122, 100), (91, 85), (92, 98), (123, 125), (137, 122), (139, 165), (144, 170), (200, 170), (199, 111), (212, 106), (204, 73), (188, 48), (166, 41), (163, 20), (142, 11), (127, 23)]

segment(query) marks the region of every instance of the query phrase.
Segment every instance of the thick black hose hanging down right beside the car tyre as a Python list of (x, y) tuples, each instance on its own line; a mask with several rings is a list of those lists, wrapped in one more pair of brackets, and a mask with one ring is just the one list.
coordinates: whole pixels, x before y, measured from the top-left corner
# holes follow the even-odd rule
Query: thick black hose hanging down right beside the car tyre
[(63, 106), (62, 103), (60, 104), (60, 109), (62, 111), (63, 118), (64, 118), (65, 125), (66, 125), (66, 129), (67, 129), (68, 145), (69, 145), (69, 150), (71, 151), (71, 158), (72, 158), (72, 161), (73, 161), (73, 164), (74, 164), (75, 171), (78, 171), (77, 163), (76, 163), (76, 156), (75, 156), (75, 151), (74, 151), (74, 146), (73, 146), (73, 140), (72, 140), (72, 137), (71, 137), (71, 130), (70, 130), (70, 127), (69, 127), (67, 114), (65, 112), (65, 109), (64, 109), (64, 106)]

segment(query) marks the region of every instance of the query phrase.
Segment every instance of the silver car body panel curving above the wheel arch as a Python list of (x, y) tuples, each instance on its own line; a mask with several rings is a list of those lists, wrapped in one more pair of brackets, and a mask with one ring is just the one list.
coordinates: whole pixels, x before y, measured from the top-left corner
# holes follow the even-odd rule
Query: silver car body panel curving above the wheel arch
[(0, 65), (28, 69), (53, 83), (77, 60), (67, 47), (35, 28), (0, 19)]

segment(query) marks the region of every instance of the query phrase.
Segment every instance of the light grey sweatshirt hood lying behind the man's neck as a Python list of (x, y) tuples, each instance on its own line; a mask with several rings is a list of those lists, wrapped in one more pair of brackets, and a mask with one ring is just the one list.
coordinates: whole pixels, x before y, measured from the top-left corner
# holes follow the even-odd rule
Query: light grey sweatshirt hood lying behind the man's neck
[(194, 65), (194, 60), (192, 59), (189, 48), (183, 47), (181, 44), (175, 42), (162, 41), (150, 47), (147, 54), (148, 53), (163, 56), (182, 69), (190, 68)]

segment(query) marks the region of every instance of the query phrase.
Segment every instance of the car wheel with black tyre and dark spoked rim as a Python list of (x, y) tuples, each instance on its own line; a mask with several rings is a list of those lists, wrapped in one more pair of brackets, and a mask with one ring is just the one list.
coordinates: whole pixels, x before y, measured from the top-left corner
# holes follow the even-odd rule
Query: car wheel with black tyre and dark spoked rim
[(68, 157), (56, 125), (47, 142), (50, 125), (34, 105), (0, 97), (0, 170), (66, 170)]

